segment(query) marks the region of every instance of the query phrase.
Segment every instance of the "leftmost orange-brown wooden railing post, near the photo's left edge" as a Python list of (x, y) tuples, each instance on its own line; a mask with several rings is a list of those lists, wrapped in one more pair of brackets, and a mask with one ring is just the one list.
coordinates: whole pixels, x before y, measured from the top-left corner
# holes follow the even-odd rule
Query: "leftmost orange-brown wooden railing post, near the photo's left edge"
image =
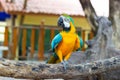
[[(5, 33), (4, 33), (4, 43), (3, 43), (4, 46), (8, 46), (8, 42), (9, 42), (8, 37), (9, 37), (9, 32), (7, 26), (5, 27)], [(3, 58), (7, 58), (7, 56), (8, 56), (8, 51), (3, 51)]]

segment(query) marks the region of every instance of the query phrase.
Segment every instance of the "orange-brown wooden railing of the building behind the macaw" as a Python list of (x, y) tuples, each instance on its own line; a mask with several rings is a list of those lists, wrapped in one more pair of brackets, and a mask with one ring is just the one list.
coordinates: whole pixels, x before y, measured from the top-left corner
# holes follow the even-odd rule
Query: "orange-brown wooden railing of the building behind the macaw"
[[(3, 52), (3, 57), (8, 58), (9, 56), (12, 56), (13, 59), (15, 59), (16, 57), (22, 57), (22, 58), (26, 58), (26, 43), (27, 43), (27, 29), (31, 29), (31, 38), (30, 38), (30, 58), (33, 58), (34, 53), (35, 53), (35, 32), (36, 30), (39, 30), (39, 36), (38, 37), (38, 59), (39, 60), (44, 60), (44, 40), (45, 40), (45, 30), (48, 29), (50, 30), (50, 41), (53, 39), (53, 37), (55, 36), (55, 30), (61, 31), (61, 28), (58, 27), (50, 27), (50, 26), (44, 26), (44, 24), (42, 23), (40, 27), (14, 27), (13, 28), (13, 37), (12, 37), (12, 53), (8, 54), (8, 51), (4, 51)], [(20, 31), (22, 30), (22, 31)], [(93, 33), (90, 32), (89, 30), (82, 30), (80, 28), (76, 29), (78, 33), (81, 33), (81, 37), (83, 39), (83, 41), (86, 41), (86, 36), (88, 36), (88, 33), (90, 33), (90, 38), (93, 37)], [(18, 33), (22, 34), (22, 55), (16, 55), (16, 50), (17, 50), (17, 46), (19, 43), (19, 38), (20, 38), (20, 34), (17, 35)], [(87, 32), (87, 33), (86, 33)], [(9, 30), (8, 27), (5, 27), (5, 33), (4, 33), (4, 46), (9, 46)], [(82, 48), (82, 50), (85, 50), (85, 44)]]

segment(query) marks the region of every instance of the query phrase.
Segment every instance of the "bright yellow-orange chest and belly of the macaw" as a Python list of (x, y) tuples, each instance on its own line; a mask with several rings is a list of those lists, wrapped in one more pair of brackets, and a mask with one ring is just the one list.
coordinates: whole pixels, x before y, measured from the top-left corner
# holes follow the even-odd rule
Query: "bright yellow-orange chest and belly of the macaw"
[(62, 41), (57, 46), (57, 50), (61, 50), (63, 56), (73, 51), (76, 41), (76, 34), (69, 32), (61, 32)]

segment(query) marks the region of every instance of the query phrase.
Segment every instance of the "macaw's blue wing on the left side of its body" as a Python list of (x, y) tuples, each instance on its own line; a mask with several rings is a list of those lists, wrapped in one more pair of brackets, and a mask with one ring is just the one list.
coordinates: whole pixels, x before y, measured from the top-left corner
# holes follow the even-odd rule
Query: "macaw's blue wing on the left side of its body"
[(52, 47), (52, 50), (54, 50), (56, 48), (56, 46), (62, 41), (62, 36), (61, 34), (57, 34), (52, 42), (51, 42), (51, 47)]

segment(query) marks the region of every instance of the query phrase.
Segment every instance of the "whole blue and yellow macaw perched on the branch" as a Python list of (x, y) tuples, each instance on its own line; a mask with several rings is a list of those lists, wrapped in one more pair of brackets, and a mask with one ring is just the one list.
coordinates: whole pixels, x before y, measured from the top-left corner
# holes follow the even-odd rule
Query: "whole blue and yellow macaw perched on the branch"
[(70, 58), (72, 52), (82, 48), (83, 41), (76, 34), (74, 21), (70, 16), (61, 15), (58, 18), (58, 26), (62, 27), (63, 31), (53, 38), (51, 48), (55, 53), (47, 63), (54, 64), (61, 62), (66, 67), (67, 60)]

